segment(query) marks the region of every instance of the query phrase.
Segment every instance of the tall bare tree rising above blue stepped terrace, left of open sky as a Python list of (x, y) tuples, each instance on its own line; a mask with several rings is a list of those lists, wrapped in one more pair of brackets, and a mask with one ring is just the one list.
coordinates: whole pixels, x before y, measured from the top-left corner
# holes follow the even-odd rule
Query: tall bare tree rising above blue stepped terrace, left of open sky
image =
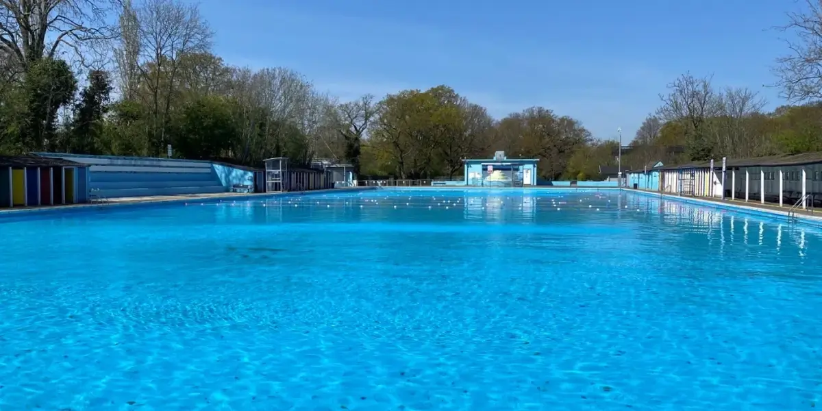
[(157, 149), (166, 143), (165, 126), (178, 84), (181, 59), (208, 51), (213, 36), (194, 4), (182, 0), (148, 0), (136, 12), (142, 84), (149, 91), (152, 134)]

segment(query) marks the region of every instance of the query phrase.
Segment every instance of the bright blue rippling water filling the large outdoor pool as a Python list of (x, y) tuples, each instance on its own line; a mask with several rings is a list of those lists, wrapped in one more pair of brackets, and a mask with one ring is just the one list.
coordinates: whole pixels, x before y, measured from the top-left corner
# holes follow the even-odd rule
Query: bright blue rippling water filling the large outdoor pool
[(607, 191), (0, 218), (0, 409), (822, 406), (822, 238)]

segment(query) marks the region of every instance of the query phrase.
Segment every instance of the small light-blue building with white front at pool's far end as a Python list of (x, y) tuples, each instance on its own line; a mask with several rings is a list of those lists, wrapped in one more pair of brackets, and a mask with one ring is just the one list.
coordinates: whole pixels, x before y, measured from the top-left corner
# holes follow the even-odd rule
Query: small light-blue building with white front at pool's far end
[(465, 185), (536, 186), (538, 161), (539, 159), (508, 159), (504, 151), (497, 151), (493, 159), (464, 159)]

